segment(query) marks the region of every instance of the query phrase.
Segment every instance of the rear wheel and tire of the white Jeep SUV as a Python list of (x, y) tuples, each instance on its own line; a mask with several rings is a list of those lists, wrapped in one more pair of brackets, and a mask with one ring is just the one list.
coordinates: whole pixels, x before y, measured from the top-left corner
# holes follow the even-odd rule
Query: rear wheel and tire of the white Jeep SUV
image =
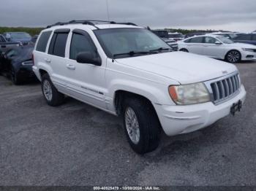
[(48, 74), (42, 75), (42, 95), (44, 95), (45, 101), (49, 106), (59, 106), (64, 102), (64, 94), (59, 93), (56, 87), (51, 82)]

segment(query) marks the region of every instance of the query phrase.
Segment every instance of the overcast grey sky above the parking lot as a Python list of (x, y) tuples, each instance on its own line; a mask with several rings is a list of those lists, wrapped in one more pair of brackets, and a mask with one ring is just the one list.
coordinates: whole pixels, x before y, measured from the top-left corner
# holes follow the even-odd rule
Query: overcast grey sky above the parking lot
[(151, 28), (251, 32), (256, 30), (256, 1), (0, 0), (0, 26), (45, 27), (59, 21), (108, 20), (108, 16)]

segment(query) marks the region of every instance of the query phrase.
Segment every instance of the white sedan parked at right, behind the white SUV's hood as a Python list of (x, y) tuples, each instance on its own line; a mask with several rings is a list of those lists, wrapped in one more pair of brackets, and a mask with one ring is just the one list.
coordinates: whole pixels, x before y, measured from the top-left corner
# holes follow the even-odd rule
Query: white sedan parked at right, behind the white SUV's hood
[(219, 35), (194, 36), (178, 42), (178, 50), (222, 59), (230, 63), (256, 60), (256, 46), (235, 43)]

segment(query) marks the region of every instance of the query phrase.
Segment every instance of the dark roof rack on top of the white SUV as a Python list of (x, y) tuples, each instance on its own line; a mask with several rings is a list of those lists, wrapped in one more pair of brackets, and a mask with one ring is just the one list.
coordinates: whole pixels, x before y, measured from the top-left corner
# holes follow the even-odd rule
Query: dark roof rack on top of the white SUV
[(106, 20), (70, 20), (69, 22), (63, 22), (63, 23), (58, 22), (53, 25), (47, 26), (46, 28), (51, 28), (53, 26), (64, 26), (69, 24), (83, 24), (83, 25), (94, 26), (95, 28), (99, 29), (97, 26), (95, 26), (95, 25), (99, 25), (99, 23), (137, 26), (135, 23), (116, 23), (114, 21), (106, 21)]

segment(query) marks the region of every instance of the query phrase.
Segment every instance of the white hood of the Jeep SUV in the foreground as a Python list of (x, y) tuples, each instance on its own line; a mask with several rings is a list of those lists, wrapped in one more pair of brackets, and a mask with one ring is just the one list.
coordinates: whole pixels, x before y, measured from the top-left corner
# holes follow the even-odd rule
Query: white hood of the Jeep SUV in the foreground
[(116, 59), (135, 69), (174, 79), (181, 84), (205, 82), (237, 71), (236, 66), (188, 52), (165, 52)]

